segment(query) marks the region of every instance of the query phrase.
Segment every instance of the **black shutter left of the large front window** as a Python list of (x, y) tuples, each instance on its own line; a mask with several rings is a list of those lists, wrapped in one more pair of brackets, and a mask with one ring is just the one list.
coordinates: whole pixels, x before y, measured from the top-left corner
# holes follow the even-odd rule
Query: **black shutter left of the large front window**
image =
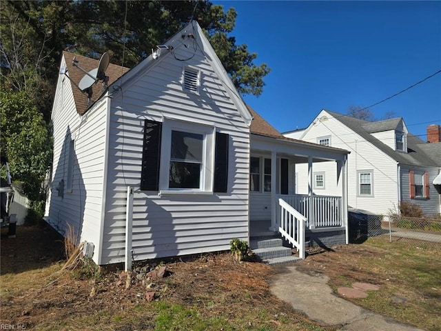
[(161, 161), (161, 133), (163, 123), (144, 121), (143, 163), (141, 166), (141, 190), (159, 190), (159, 165)]

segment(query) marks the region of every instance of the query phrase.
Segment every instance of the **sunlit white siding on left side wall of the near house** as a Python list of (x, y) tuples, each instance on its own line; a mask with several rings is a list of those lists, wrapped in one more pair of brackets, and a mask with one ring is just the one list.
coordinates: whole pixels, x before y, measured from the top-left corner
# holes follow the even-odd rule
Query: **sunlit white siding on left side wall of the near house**
[[(52, 108), (54, 156), (45, 219), (61, 234), (72, 226), (77, 243), (94, 243), (93, 259), (99, 263), (107, 99), (80, 117), (72, 94), (76, 87), (63, 76)], [(61, 180), (62, 197), (56, 190)]]

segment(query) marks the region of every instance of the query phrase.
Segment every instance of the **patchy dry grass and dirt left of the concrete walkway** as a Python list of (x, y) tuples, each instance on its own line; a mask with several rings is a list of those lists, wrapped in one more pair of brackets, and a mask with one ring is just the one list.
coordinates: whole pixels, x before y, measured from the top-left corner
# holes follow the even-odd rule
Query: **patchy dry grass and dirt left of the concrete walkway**
[[(18, 228), (16, 239), (2, 237), (0, 324), (43, 331), (336, 330), (272, 296), (266, 280), (274, 270), (262, 263), (237, 263), (231, 254), (171, 261), (164, 264), (168, 277), (152, 281), (151, 289), (134, 281), (126, 290), (120, 272), (97, 277), (88, 260), (58, 272), (59, 243), (37, 226)], [(156, 299), (147, 301), (152, 290)]]

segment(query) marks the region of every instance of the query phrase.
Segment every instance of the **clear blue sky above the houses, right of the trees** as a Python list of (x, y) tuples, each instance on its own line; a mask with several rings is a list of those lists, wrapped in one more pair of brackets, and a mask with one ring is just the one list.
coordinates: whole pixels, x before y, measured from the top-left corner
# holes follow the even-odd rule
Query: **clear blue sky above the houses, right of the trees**
[[(441, 70), (441, 1), (213, 1), (234, 7), (232, 36), (267, 63), (260, 97), (245, 101), (281, 132), (323, 108), (347, 114)], [(403, 117), (426, 140), (441, 124), (441, 73), (371, 108)]]

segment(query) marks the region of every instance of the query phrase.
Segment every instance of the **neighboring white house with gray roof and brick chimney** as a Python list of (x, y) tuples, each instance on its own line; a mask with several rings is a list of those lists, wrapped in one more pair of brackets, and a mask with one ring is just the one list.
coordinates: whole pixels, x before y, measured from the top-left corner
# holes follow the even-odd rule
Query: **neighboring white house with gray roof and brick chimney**
[[(434, 131), (434, 132), (433, 132)], [(293, 136), (295, 134), (295, 136)], [(424, 214), (440, 213), (440, 194), (433, 181), (440, 173), (440, 126), (429, 126), (431, 143), (425, 143), (407, 129), (400, 118), (363, 121), (322, 110), (300, 133), (300, 139), (349, 150), (348, 203), (353, 208), (387, 216), (399, 211), (401, 201), (418, 203)], [(286, 132), (299, 137), (299, 131)], [(437, 138), (438, 137), (438, 138)], [(314, 172), (314, 192), (332, 194), (334, 174), (331, 163), (322, 163)], [(305, 166), (297, 173), (305, 173)], [(301, 177), (298, 192), (305, 192)]]

